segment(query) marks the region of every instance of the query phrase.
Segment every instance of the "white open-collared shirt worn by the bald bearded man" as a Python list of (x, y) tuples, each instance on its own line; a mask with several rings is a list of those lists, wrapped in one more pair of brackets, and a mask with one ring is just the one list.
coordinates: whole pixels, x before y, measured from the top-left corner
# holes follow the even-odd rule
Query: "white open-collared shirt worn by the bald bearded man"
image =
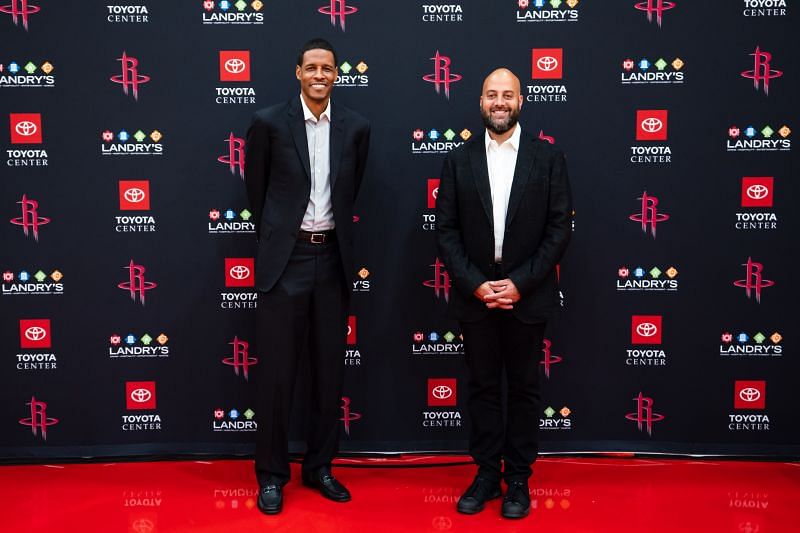
[(511, 183), (517, 168), (517, 152), (522, 126), (517, 124), (514, 133), (504, 143), (497, 141), (486, 132), (486, 163), (489, 168), (489, 186), (492, 189), (492, 211), (494, 215), (494, 260), (503, 259), (503, 237), (506, 232), (506, 211), (511, 196)]

